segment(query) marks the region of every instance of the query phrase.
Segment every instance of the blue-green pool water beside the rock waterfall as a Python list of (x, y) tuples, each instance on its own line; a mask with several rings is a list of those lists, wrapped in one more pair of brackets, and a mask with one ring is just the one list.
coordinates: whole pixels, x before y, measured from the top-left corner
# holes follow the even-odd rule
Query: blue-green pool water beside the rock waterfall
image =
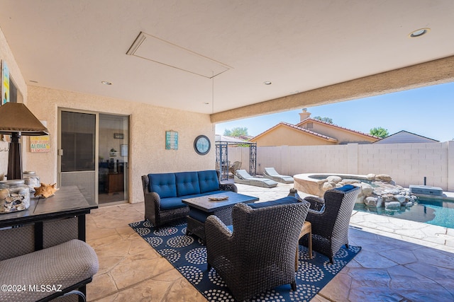
[(374, 213), (382, 216), (392, 216), (399, 219), (418, 221), (454, 228), (454, 202), (441, 199), (418, 199), (413, 207), (401, 207), (398, 211), (366, 207), (365, 204), (355, 204), (355, 210)]

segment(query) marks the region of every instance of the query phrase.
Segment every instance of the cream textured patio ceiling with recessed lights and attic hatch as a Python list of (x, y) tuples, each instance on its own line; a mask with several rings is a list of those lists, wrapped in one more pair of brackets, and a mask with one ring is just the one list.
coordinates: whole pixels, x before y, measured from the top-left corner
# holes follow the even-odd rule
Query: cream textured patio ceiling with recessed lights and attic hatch
[[(452, 56), (453, 20), (452, 0), (0, 0), (28, 84), (204, 113)], [(140, 32), (227, 69), (126, 54)]]

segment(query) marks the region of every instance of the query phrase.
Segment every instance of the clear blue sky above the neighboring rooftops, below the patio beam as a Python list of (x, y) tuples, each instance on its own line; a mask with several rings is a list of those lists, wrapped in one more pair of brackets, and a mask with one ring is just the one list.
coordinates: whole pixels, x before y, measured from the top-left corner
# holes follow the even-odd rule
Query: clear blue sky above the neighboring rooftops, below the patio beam
[[(297, 124), (301, 110), (219, 123), (216, 134), (246, 127), (254, 137), (279, 122)], [(329, 117), (333, 124), (365, 133), (382, 127), (389, 134), (405, 130), (442, 142), (454, 139), (454, 83), (309, 107), (307, 111), (311, 117)]]

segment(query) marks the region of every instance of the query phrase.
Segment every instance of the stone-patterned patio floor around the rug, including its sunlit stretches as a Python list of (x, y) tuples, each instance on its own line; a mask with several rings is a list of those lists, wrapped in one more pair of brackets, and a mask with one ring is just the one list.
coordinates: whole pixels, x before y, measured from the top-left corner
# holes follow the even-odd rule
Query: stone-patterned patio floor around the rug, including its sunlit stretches
[[(238, 185), (238, 192), (267, 201), (292, 186)], [(206, 301), (128, 226), (143, 211), (143, 203), (121, 204), (87, 216), (87, 242), (100, 265), (88, 301)], [(354, 211), (349, 240), (361, 252), (313, 302), (454, 301), (454, 229)]]

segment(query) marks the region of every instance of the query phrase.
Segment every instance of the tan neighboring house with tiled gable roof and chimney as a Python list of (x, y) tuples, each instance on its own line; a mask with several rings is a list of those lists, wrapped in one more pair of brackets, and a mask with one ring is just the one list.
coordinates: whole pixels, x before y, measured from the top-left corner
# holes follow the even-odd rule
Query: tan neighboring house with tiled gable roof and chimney
[(257, 146), (317, 146), (371, 144), (380, 139), (370, 134), (314, 120), (306, 109), (303, 109), (299, 115), (301, 122), (298, 124), (280, 122), (250, 141), (255, 141)]

